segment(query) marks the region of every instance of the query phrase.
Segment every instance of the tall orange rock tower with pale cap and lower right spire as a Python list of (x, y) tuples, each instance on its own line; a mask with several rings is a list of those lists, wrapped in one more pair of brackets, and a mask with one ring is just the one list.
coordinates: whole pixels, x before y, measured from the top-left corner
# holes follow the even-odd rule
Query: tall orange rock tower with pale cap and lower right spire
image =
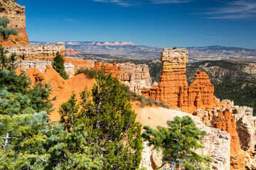
[(213, 95), (213, 84), (210, 83), (206, 73), (198, 72), (193, 84), (188, 86), (186, 79), (188, 50), (164, 48), (161, 52), (161, 62), (163, 67), (159, 85), (144, 89), (142, 91), (144, 96), (155, 101), (162, 101), (170, 108), (193, 108), (193, 111), (196, 108), (206, 108), (217, 104)]

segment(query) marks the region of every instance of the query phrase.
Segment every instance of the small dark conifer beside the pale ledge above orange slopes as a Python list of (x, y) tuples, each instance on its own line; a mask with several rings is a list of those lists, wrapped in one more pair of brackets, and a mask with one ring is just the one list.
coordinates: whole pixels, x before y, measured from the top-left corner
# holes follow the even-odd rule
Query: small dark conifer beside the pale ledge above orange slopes
[(58, 74), (63, 77), (63, 79), (68, 79), (68, 74), (65, 72), (64, 61), (65, 60), (63, 57), (61, 57), (60, 52), (57, 52), (56, 57), (53, 59), (52, 66), (53, 69), (55, 69), (56, 72), (58, 72)]

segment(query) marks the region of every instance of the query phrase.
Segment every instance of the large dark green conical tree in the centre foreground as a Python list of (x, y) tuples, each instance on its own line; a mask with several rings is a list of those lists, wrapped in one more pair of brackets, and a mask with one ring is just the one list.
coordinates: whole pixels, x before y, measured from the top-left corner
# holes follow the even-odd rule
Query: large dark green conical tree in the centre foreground
[(60, 107), (60, 122), (71, 131), (78, 125), (84, 128), (92, 159), (101, 157), (104, 169), (137, 169), (142, 155), (142, 127), (135, 122), (136, 113), (128, 102), (125, 86), (102, 72), (97, 73), (96, 81), (92, 94), (87, 88), (82, 91), (80, 111), (74, 94)]

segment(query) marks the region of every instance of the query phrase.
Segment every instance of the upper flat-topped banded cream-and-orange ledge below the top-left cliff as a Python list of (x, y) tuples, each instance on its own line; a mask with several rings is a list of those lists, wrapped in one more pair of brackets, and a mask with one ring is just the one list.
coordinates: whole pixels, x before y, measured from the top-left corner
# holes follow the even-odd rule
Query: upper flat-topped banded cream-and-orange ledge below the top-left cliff
[(18, 47), (6, 47), (6, 50), (14, 53), (21, 60), (53, 60), (57, 52), (64, 57), (65, 45), (63, 44), (45, 44), (45, 45), (27, 45)]

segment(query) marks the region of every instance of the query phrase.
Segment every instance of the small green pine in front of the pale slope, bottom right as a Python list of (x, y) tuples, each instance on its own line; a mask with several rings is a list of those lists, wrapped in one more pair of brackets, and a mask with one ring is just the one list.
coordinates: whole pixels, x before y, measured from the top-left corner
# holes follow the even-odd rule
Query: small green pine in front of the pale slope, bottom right
[[(198, 141), (206, 135), (206, 131), (196, 128), (195, 123), (189, 116), (175, 117), (174, 121), (167, 121), (169, 128), (161, 126), (157, 130), (144, 126), (142, 137), (154, 145), (154, 149), (162, 149), (164, 164), (171, 164), (171, 170), (176, 166), (183, 169), (209, 169), (210, 157), (196, 154), (195, 149), (203, 148)], [(159, 167), (159, 169), (161, 168)]]

